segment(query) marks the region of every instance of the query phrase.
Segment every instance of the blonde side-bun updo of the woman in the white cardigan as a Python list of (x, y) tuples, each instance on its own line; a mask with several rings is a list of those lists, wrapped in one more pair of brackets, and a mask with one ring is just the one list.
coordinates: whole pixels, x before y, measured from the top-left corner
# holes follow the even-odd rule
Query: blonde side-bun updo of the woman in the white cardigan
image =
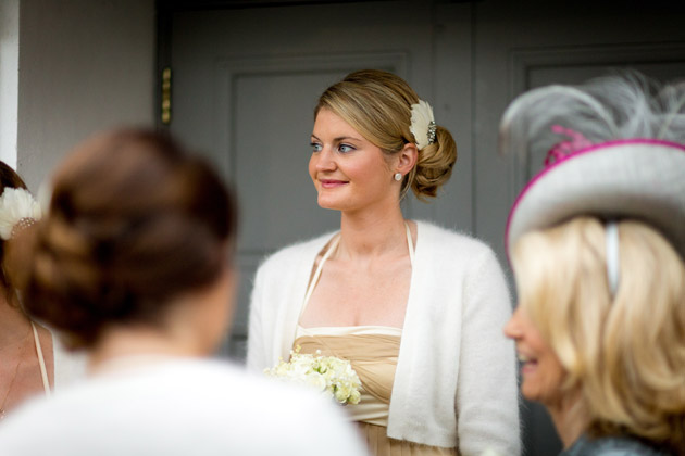
[[(379, 69), (350, 73), (328, 87), (319, 98), (314, 117), (322, 109), (340, 116), (366, 140), (393, 155), (416, 140), (409, 127), (411, 105), (419, 96), (399, 76)], [(457, 144), (452, 135), (439, 125), (435, 142), (419, 151), (416, 165), (404, 176), (400, 190), (403, 198), (411, 188), (416, 198), (436, 197), (437, 189), (452, 174)]]

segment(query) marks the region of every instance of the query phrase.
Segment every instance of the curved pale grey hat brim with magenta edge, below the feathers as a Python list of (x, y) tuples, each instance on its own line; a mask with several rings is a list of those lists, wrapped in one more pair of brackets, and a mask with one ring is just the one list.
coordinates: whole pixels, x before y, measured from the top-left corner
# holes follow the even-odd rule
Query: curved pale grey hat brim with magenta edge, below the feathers
[(507, 254), (527, 231), (580, 215), (636, 218), (659, 229), (685, 258), (685, 145), (651, 139), (605, 142), (535, 176), (507, 220)]

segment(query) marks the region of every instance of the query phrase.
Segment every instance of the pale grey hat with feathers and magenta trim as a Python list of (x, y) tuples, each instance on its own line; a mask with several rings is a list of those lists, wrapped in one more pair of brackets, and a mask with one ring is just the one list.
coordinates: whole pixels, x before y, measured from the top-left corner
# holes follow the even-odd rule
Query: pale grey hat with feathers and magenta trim
[(507, 221), (507, 253), (527, 231), (580, 215), (634, 218), (685, 258), (685, 85), (630, 73), (519, 97), (500, 124), (502, 152), (547, 154)]

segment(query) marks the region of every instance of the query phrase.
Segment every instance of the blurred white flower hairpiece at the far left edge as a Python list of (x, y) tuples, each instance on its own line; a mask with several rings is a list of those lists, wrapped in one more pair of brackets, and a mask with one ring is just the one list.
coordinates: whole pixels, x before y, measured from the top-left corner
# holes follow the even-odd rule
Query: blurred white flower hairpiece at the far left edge
[(0, 197), (0, 238), (10, 240), (39, 220), (41, 215), (40, 204), (27, 190), (5, 187)]

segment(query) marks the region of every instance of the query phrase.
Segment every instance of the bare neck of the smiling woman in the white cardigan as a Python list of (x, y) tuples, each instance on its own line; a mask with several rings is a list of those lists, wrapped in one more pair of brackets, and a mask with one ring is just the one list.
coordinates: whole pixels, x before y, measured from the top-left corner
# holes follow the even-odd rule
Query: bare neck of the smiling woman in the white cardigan
[(397, 205), (387, 211), (346, 213), (340, 217), (338, 257), (373, 258), (407, 250), (404, 217)]

